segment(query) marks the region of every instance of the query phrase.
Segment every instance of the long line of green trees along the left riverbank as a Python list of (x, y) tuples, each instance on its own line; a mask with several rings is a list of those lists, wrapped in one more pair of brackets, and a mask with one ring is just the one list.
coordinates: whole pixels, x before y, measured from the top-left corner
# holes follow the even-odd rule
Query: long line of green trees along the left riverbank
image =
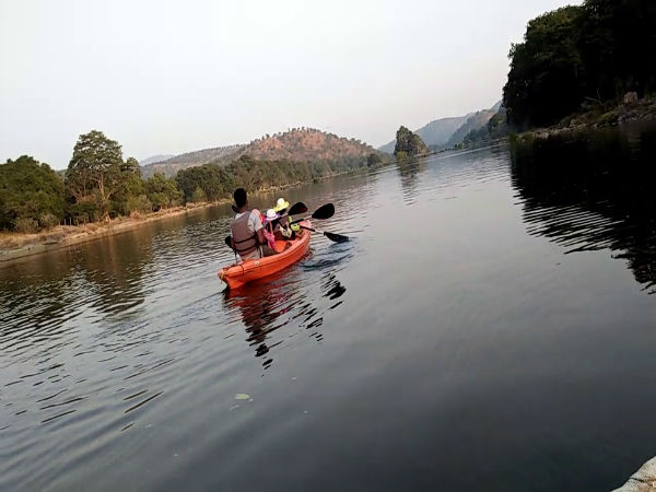
[(248, 155), (220, 166), (206, 164), (175, 178), (141, 177), (133, 157), (101, 131), (80, 136), (63, 173), (22, 155), (0, 164), (0, 230), (33, 233), (55, 225), (84, 224), (180, 206), (230, 198), (236, 187), (249, 191), (312, 181), (380, 163), (377, 154), (332, 161), (256, 161)]

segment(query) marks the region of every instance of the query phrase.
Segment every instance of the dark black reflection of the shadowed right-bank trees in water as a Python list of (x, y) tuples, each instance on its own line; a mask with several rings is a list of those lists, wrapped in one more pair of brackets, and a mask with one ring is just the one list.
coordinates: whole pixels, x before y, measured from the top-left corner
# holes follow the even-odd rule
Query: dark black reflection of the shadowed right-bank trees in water
[(530, 234), (567, 253), (619, 251), (656, 292), (656, 131), (626, 128), (513, 145), (513, 184)]

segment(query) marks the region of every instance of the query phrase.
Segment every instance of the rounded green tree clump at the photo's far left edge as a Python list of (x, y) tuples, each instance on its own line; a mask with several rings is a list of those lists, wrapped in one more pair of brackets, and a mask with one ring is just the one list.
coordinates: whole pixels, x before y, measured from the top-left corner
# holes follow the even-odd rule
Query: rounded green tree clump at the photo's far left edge
[(0, 165), (0, 227), (56, 225), (63, 204), (63, 183), (47, 164), (22, 155)]

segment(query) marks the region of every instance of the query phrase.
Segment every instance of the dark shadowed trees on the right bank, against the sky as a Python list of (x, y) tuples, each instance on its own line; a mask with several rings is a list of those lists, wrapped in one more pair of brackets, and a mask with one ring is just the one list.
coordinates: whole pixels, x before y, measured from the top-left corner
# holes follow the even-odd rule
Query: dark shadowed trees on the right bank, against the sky
[(531, 20), (508, 55), (508, 122), (549, 126), (586, 106), (656, 91), (656, 2), (585, 0)]

